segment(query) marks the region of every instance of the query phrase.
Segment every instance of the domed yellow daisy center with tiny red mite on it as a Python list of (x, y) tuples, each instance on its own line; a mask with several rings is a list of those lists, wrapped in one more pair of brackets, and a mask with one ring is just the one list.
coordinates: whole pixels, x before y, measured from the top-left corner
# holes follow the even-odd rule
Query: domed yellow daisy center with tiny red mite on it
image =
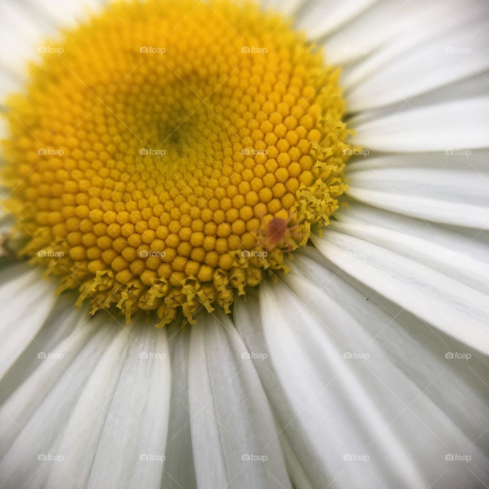
[(339, 72), (283, 18), (118, 2), (41, 51), (7, 101), (5, 206), (94, 312), (229, 312), (338, 207)]

